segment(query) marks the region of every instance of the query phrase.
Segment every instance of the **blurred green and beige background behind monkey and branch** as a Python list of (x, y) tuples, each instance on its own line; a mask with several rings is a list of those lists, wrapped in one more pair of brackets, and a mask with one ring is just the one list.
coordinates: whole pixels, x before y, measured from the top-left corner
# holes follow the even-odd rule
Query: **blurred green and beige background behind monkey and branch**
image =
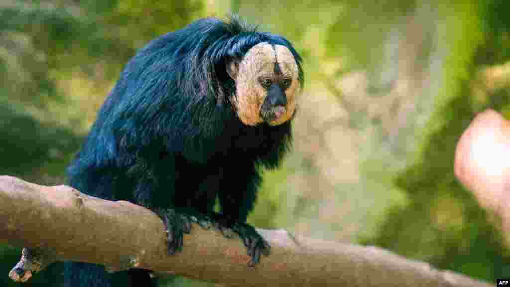
[[(510, 115), (506, 0), (1, 0), (0, 174), (65, 183), (136, 50), (230, 11), (285, 35), (304, 58), (294, 149), (266, 173), (252, 224), (510, 277), (498, 219), (453, 175), (455, 143), (474, 114)], [(0, 254), (0, 284), (17, 285), (7, 274), (20, 250)], [(46, 275), (24, 285), (47, 285)]]

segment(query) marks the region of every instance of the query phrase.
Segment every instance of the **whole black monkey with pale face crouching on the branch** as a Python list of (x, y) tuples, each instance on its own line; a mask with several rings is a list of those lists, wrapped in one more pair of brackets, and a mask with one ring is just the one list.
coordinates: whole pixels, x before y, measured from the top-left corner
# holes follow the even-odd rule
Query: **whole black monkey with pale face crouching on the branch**
[[(157, 213), (169, 254), (182, 250), (192, 222), (212, 223), (237, 233), (255, 265), (270, 246), (246, 219), (261, 168), (278, 168), (291, 148), (303, 79), (285, 37), (237, 15), (164, 34), (124, 66), (68, 166), (68, 183)], [(156, 284), (149, 275), (67, 262), (64, 285)]]

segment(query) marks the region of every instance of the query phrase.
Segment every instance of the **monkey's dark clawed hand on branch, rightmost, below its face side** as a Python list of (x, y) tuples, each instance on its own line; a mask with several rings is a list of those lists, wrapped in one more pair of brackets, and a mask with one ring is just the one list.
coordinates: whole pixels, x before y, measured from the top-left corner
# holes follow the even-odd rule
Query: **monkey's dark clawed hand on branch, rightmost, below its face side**
[(232, 230), (239, 234), (244, 246), (248, 249), (248, 255), (251, 256), (249, 266), (258, 264), (261, 254), (269, 255), (271, 246), (255, 228), (248, 224), (237, 223), (233, 226)]

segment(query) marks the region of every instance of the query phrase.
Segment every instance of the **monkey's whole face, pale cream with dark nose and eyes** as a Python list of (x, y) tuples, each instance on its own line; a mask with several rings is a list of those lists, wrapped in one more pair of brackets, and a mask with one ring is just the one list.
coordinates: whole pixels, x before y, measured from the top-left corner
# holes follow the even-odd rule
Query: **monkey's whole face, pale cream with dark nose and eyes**
[(281, 125), (294, 114), (299, 71), (286, 46), (254, 45), (241, 61), (229, 63), (227, 72), (236, 81), (233, 102), (245, 125)]

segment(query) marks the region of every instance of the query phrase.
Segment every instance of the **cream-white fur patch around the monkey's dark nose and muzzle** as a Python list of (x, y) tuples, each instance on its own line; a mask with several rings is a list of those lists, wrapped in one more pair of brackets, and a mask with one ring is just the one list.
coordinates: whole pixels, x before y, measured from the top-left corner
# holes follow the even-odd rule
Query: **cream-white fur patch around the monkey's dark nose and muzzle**
[(300, 92), (298, 67), (290, 50), (283, 45), (271, 45), (267, 42), (251, 47), (239, 63), (227, 66), (228, 74), (236, 81), (235, 105), (241, 122), (248, 126), (263, 123), (260, 109), (267, 95), (261, 79), (275, 77), (275, 62), (284, 78), (291, 80), (285, 90), (287, 104), (281, 116), (275, 118), (270, 125), (283, 124), (290, 119), (296, 108), (296, 96)]

